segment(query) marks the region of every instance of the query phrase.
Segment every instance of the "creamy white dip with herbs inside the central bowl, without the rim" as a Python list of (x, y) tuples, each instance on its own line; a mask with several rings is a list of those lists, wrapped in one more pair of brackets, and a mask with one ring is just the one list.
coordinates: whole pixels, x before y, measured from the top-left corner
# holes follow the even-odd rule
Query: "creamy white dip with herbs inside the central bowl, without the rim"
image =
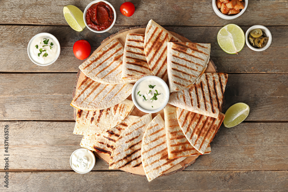
[(135, 88), (136, 102), (146, 110), (160, 108), (169, 97), (164, 86), (167, 85), (156, 79), (144, 79)]

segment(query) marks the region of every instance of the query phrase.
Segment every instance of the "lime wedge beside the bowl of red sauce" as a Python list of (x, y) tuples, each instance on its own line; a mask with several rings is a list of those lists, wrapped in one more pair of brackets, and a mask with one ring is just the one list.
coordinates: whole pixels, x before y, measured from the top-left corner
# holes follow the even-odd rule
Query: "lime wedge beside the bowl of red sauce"
[(66, 5), (63, 8), (64, 17), (71, 28), (75, 31), (83, 31), (86, 27), (83, 20), (83, 13), (74, 5)]

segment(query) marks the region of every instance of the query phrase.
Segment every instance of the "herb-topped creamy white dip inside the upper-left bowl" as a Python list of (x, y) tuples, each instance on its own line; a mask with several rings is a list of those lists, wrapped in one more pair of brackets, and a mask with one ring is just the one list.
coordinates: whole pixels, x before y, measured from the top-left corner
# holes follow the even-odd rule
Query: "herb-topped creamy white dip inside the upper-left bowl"
[[(41, 48), (42, 48), (42, 52), (40, 50)], [(59, 47), (57, 43), (55, 42), (55, 39), (48, 37), (47, 35), (43, 35), (43, 36), (36, 37), (35, 39), (31, 41), (31, 44), (29, 47), (29, 54), (35, 62), (39, 64), (48, 64), (52, 62), (58, 56), (58, 49)]]

